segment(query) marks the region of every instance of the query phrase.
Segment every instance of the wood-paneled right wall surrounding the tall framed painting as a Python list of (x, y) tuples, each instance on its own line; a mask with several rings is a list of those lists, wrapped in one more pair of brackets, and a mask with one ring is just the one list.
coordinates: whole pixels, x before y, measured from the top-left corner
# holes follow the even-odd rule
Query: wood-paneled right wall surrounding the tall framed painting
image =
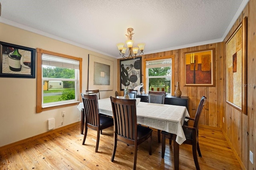
[[(242, 22), (244, 17), (248, 18), (247, 27), (247, 115), (239, 110), (224, 104), (225, 107), (225, 123), (222, 131), (228, 138), (230, 144), (236, 152), (236, 156), (240, 158), (244, 169), (256, 169), (256, 0), (250, 0), (244, 8), (242, 14), (236, 20), (232, 29), (224, 39), (223, 48), (228, 38), (235, 31), (237, 26)], [(226, 71), (225, 65), (223, 69)], [(224, 72), (224, 75), (225, 72)], [(225, 83), (226, 87), (226, 83)], [(225, 88), (223, 93), (226, 93)], [(254, 164), (249, 161), (249, 150), (254, 153)]]

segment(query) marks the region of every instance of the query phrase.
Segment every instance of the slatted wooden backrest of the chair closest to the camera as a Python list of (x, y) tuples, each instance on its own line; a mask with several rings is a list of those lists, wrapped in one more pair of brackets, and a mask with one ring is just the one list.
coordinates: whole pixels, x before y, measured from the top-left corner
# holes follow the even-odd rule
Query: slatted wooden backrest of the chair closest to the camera
[(110, 97), (113, 116), (114, 131), (117, 135), (128, 140), (137, 139), (136, 100), (117, 99)]

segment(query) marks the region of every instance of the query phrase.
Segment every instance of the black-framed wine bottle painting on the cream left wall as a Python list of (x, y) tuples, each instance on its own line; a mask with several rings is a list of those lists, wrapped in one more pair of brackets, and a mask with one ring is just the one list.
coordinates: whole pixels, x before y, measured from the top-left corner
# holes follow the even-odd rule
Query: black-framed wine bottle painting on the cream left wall
[(0, 42), (0, 77), (35, 78), (36, 49)]

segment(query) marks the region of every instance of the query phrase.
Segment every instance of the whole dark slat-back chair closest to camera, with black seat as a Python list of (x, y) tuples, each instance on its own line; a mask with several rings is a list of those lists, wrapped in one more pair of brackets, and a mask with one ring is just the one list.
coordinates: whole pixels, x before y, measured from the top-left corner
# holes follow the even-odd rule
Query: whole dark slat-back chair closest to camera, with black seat
[(136, 169), (138, 145), (148, 139), (149, 154), (152, 154), (152, 129), (137, 124), (136, 100), (110, 97), (114, 116), (114, 147), (111, 162), (116, 154), (117, 141), (134, 146), (134, 166)]

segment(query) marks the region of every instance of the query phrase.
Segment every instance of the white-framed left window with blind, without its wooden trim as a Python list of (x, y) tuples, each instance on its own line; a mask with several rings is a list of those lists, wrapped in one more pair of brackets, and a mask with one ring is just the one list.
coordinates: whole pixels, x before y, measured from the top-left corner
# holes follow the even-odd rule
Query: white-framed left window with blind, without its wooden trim
[(42, 54), (42, 107), (79, 100), (79, 61)]

